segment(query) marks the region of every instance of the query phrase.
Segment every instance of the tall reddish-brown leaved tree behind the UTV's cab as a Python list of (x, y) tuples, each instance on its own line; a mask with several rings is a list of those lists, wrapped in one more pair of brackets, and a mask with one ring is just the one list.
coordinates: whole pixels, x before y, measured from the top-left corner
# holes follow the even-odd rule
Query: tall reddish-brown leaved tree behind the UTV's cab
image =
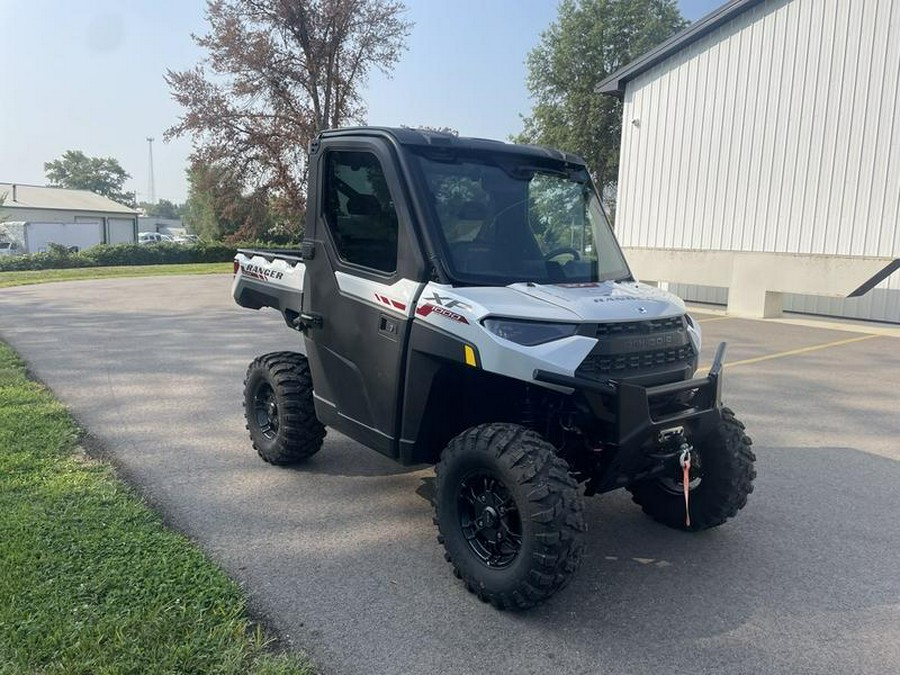
[(362, 122), (372, 68), (389, 73), (411, 24), (395, 0), (209, 0), (206, 59), (168, 71), (184, 109), (166, 138), (191, 134), (192, 160), (228, 167), (302, 229), (306, 152), (326, 128)]

